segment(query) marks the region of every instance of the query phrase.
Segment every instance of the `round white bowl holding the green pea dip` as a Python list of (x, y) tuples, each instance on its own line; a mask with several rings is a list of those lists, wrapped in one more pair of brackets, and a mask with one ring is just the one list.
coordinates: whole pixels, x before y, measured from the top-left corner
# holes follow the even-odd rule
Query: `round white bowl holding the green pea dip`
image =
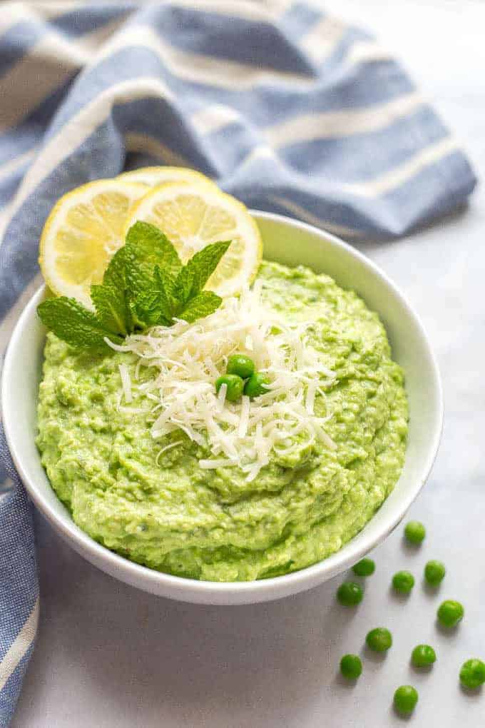
[(409, 443), (396, 488), (365, 528), (337, 553), (307, 569), (256, 582), (207, 582), (147, 569), (93, 541), (57, 499), (34, 442), (36, 403), (45, 330), (36, 314), (44, 296), (25, 306), (5, 357), (3, 421), (10, 451), (33, 502), (58, 533), (88, 561), (111, 576), (153, 594), (200, 604), (248, 604), (310, 589), (356, 563), (385, 539), (404, 517), (425, 483), (438, 450), (443, 419), (441, 382), (433, 352), (417, 314), (395, 285), (371, 261), (333, 235), (281, 215), (252, 213), (260, 226), (265, 258), (289, 266), (304, 264), (353, 288), (380, 314), (393, 357), (406, 373)]

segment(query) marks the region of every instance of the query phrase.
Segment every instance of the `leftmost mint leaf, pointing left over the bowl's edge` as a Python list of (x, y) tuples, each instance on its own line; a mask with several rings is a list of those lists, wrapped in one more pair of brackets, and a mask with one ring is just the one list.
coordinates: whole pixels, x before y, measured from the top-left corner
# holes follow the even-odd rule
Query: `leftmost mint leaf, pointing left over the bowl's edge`
[(109, 331), (100, 323), (96, 314), (81, 306), (75, 298), (48, 298), (37, 306), (37, 312), (41, 322), (50, 331), (73, 347), (109, 352), (111, 349), (106, 344), (105, 337), (115, 344), (123, 341), (122, 336)]

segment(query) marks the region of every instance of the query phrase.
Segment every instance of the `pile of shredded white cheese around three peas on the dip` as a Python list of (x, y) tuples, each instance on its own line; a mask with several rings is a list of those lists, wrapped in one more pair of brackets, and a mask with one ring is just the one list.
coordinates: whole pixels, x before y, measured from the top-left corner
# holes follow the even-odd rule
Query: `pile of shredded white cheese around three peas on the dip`
[[(199, 460), (200, 467), (239, 467), (248, 481), (271, 454), (291, 456), (316, 441), (336, 448), (324, 430), (329, 416), (314, 411), (316, 397), (325, 397), (334, 373), (308, 344), (308, 324), (288, 325), (266, 309), (261, 288), (258, 281), (239, 298), (225, 298), (214, 314), (195, 323), (156, 326), (129, 336), (122, 346), (107, 340), (116, 351), (139, 357), (135, 379), (140, 366), (156, 368), (153, 379), (134, 384), (127, 365), (119, 366), (120, 409), (130, 411), (121, 399), (129, 404), (140, 392), (151, 403), (153, 438), (182, 430), (210, 451), (210, 458)], [(236, 403), (225, 401), (225, 385), (216, 393), (215, 380), (236, 353), (252, 357), (257, 370), (268, 375), (268, 392), (253, 400), (243, 395)], [(159, 455), (176, 444), (179, 440)]]

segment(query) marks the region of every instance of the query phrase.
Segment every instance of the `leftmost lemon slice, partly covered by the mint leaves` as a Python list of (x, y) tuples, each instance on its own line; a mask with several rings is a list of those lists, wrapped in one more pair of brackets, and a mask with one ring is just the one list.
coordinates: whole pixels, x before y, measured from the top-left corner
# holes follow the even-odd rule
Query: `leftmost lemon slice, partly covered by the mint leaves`
[(92, 308), (89, 290), (103, 280), (113, 253), (124, 244), (124, 222), (146, 187), (97, 180), (61, 197), (47, 218), (39, 246), (45, 282), (57, 296)]

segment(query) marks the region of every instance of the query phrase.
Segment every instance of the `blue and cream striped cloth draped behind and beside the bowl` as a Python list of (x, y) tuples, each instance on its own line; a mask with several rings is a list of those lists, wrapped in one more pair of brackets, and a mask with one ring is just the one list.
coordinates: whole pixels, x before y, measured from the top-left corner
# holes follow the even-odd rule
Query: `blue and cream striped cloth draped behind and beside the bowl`
[[(123, 167), (196, 167), (252, 207), (390, 238), (475, 178), (393, 55), (289, 0), (2, 3), (0, 336), (39, 284), (61, 194)], [(31, 510), (0, 433), (0, 724), (33, 646)]]

